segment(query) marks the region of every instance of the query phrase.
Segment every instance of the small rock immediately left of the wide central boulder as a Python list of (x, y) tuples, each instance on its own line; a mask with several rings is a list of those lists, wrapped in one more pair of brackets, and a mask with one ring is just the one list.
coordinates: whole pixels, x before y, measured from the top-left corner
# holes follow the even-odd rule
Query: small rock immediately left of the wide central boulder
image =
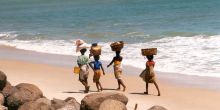
[(58, 110), (80, 110), (80, 104), (73, 97), (68, 97), (64, 100), (65, 105)]

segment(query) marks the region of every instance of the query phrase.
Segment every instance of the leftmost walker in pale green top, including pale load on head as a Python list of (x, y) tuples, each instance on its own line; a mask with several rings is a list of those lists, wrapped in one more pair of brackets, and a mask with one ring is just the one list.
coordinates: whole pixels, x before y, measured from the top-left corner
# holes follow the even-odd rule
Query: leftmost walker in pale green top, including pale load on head
[(88, 75), (89, 75), (89, 58), (85, 55), (87, 49), (86, 44), (82, 40), (76, 41), (77, 49), (76, 51), (80, 51), (81, 55), (77, 58), (77, 64), (80, 68), (79, 72), (79, 81), (85, 86), (85, 93), (89, 92), (90, 86), (88, 85)]

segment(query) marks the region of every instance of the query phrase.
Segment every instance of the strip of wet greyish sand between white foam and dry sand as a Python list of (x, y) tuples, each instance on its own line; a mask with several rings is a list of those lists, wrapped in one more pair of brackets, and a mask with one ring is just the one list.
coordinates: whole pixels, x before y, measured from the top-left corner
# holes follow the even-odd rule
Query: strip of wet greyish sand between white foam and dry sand
[[(76, 65), (76, 56), (41, 53), (2, 45), (0, 45), (0, 59), (13, 59), (68, 68), (73, 68)], [(109, 62), (102, 61), (102, 63), (104, 65), (106, 73), (113, 72), (112, 67), (106, 68), (105, 66)], [(142, 70), (140, 68), (124, 65), (123, 71), (127, 75), (139, 78), (139, 73), (141, 73)], [(136, 74), (134, 74), (133, 72), (135, 72)], [(168, 82), (172, 85), (181, 85), (185, 87), (195, 87), (220, 91), (220, 78), (217, 77), (184, 75), (179, 73), (165, 73), (158, 71), (156, 71), (156, 74), (159, 80), (163, 80), (164, 82)], [(213, 84), (213, 82), (215, 83)]]

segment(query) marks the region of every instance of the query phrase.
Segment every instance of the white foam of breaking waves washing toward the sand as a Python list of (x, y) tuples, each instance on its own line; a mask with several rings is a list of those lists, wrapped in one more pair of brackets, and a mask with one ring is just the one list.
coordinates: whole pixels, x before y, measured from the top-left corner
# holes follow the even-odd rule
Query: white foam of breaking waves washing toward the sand
[[(2, 39), (0, 45), (43, 53), (78, 56), (79, 53), (75, 52), (74, 40)], [(110, 61), (114, 57), (110, 43), (99, 43), (102, 46), (102, 60)], [(220, 35), (176, 36), (145, 43), (125, 44), (122, 50), (123, 64), (144, 69), (147, 59), (141, 55), (141, 48), (150, 47), (158, 48), (158, 54), (155, 56), (157, 71), (220, 77)]]

